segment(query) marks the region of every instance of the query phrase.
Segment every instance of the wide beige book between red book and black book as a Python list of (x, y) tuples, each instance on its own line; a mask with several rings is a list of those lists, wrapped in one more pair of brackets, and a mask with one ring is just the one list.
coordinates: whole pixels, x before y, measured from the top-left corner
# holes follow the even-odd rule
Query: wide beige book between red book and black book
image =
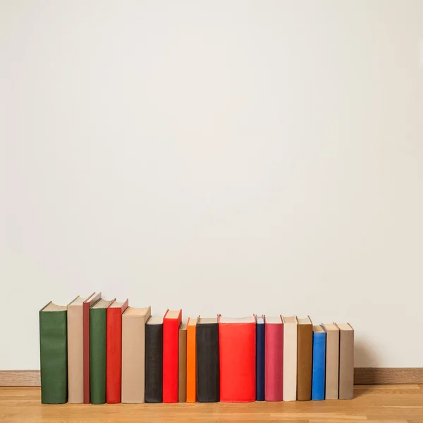
[(151, 307), (128, 307), (122, 314), (122, 403), (144, 403), (145, 323)]

